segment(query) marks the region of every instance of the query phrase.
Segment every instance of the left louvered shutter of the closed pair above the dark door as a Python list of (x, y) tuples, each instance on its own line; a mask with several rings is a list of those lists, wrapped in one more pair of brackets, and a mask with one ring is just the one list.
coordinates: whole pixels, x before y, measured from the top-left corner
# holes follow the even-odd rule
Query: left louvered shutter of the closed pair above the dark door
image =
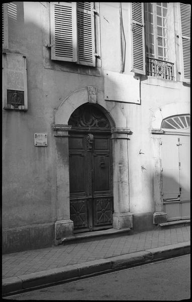
[(51, 59), (77, 61), (76, 3), (51, 2)]

